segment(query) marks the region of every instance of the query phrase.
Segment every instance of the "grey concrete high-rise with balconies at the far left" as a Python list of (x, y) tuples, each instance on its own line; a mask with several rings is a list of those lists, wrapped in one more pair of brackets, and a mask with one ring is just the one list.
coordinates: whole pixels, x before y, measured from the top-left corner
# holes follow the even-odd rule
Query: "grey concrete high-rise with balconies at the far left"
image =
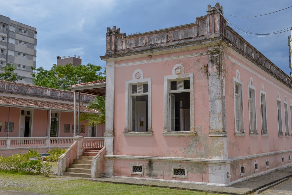
[(19, 83), (32, 83), (31, 66), (36, 67), (36, 28), (0, 15), (0, 71), (14, 64)]

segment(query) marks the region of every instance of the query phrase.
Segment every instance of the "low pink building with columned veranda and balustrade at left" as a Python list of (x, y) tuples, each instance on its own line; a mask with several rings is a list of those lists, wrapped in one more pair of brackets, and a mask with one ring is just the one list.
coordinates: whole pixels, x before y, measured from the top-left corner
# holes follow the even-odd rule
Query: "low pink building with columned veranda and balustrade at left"
[[(86, 107), (94, 97), (81, 94), (80, 112), (96, 112)], [(78, 101), (79, 96), (76, 98)], [(78, 111), (78, 103), (76, 108)], [(69, 147), (73, 143), (73, 124), (74, 92), (0, 80), (0, 155), (32, 147), (41, 152), (56, 146)], [(96, 128), (81, 122), (79, 128), (84, 137), (104, 134), (104, 125)]]

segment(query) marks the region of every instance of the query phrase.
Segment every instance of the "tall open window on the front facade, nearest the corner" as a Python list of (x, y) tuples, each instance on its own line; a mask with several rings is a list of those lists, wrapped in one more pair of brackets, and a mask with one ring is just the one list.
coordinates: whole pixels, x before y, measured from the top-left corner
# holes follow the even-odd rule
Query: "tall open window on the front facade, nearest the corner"
[(190, 131), (190, 79), (169, 82), (171, 131)]

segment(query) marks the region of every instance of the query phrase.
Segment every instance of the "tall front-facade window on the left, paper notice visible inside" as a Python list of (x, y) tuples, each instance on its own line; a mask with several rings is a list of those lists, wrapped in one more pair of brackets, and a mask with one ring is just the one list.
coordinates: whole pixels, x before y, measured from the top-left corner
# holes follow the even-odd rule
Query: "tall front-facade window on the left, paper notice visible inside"
[(148, 83), (131, 85), (131, 131), (147, 131)]

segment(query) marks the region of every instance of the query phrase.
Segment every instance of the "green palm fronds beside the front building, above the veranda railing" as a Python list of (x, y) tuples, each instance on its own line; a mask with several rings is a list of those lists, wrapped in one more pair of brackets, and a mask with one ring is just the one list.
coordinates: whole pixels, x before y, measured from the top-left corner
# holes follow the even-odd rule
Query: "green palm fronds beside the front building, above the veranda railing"
[(98, 113), (81, 113), (80, 122), (87, 120), (86, 126), (97, 126), (105, 123), (105, 97), (96, 96), (88, 104), (88, 110), (93, 109)]

